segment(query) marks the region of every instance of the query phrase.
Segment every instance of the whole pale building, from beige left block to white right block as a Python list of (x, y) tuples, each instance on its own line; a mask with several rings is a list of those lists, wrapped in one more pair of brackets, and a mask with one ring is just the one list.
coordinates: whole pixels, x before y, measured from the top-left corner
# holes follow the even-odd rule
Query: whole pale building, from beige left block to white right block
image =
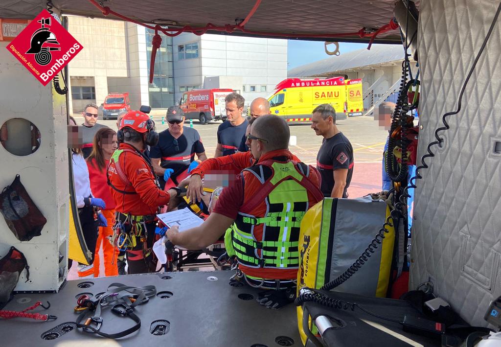
[(248, 106), (257, 97), (269, 96), (287, 78), (287, 40), (160, 34), (150, 84), (153, 30), (69, 17), (69, 31), (84, 47), (69, 64), (70, 113), (81, 112), (90, 102), (100, 105), (111, 92), (128, 92), (133, 109), (149, 105), (160, 112), (178, 103), (183, 92), (202, 88), (233, 89)]

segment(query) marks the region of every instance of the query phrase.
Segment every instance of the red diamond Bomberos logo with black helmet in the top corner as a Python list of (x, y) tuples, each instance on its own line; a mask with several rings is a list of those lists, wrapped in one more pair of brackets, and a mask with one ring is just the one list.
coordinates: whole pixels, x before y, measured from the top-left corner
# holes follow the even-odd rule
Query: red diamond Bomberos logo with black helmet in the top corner
[(83, 47), (44, 10), (7, 49), (45, 86)]

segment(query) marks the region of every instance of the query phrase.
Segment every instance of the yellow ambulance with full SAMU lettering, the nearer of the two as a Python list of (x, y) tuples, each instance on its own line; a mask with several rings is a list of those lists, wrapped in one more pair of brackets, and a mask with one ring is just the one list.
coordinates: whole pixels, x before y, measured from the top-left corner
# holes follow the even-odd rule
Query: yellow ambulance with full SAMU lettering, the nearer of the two
[(275, 87), (268, 98), (270, 112), (288, 122), (311, 121), (312, 111), (320, 104), (331, 104), (336, 118), (346, 118), (346, 86), (343, 77), (329, 79), (288, 78)]

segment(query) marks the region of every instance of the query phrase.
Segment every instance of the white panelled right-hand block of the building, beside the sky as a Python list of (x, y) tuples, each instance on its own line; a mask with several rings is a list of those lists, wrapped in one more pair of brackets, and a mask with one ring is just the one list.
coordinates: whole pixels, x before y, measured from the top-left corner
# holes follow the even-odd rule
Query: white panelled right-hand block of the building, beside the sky
[(191, 89), (230, 88), (245, 98), (269, 96), (287, 78), (287, 40), (184, 33), (172, 39), (178, 101)]

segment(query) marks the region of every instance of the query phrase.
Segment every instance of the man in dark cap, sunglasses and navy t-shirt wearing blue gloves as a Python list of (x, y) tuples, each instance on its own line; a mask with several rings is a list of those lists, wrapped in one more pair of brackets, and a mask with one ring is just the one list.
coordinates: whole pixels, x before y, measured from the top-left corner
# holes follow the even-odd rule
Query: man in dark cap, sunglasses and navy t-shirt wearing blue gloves
[(184, 119), (184, 113), (179, 107), (169, 107), (167, 110), (169, 127), (160, 132), (158, 143), (150, 148), (151, 163), (159, 176), (162, 189), (165, 187), (165, 169), (173, 170), (170, 179), (177, 185), (179, 183), (177, 177), (195, 160), (195, 153), (198, 161), (207, 159), (200, 134), (194, 128), (183, 126)]

